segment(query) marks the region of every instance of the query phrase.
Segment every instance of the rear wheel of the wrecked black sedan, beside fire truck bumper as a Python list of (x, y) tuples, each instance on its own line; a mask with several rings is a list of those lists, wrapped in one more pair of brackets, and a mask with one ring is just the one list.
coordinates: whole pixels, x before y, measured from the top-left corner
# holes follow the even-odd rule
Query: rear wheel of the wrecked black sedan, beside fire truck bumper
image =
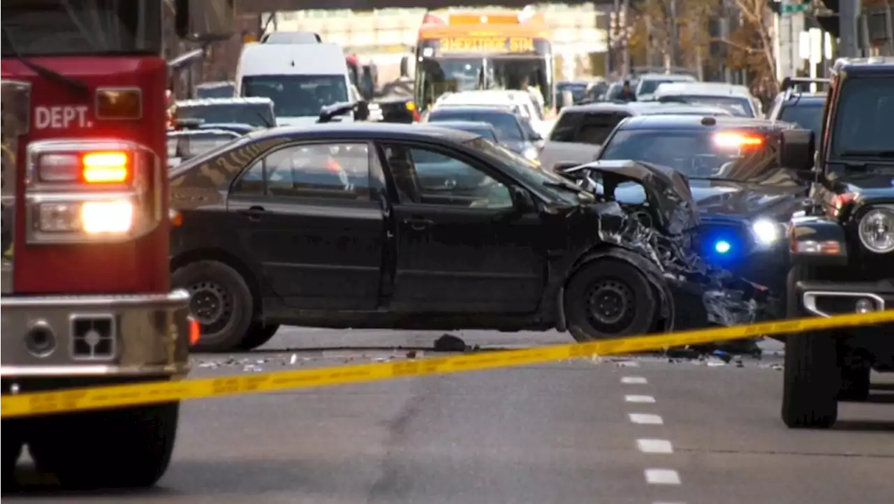
[(174, 286), (190, 291), (190, 311), (202, 328), (198, 352), (240, 348), (254, 319), (254, 299), (242, 275), (217, 261), (198, 261), (173, 272)]

